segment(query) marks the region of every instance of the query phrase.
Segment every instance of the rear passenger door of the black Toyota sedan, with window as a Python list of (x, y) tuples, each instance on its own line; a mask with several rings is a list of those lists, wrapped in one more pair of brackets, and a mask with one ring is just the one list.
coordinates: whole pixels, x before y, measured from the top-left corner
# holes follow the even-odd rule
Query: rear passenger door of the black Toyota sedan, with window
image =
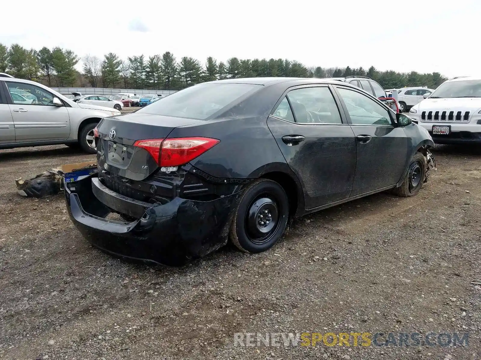
[(349, 196), (354, 178), (354, 133), (328, 85), (289, 90), (274, 107), (267, 126), (303, 185), (306, 209)]

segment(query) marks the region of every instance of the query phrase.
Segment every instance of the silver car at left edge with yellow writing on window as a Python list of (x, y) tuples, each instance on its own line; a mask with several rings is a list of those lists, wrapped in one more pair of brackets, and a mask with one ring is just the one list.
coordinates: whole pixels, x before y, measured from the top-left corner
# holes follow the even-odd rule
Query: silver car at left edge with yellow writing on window
[(65, 144), (95, 154), (93, 129), (113, 115), (120, 111), (77, 104), (42, 84), (0, 76), (0, 149)]

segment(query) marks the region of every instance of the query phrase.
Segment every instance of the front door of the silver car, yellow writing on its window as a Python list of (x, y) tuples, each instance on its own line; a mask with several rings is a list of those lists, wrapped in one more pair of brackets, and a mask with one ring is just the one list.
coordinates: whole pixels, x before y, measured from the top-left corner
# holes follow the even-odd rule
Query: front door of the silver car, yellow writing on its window
[[(16, 142), (67, 139), (70, 120), (67, 108), (53, 105), (55, 97), (49, 91), (33, 84), (5, 82), (10, 95)], [(22, 100), (16, 100), (18, 94)], [(31, 100), (25, 104), (25, 98)]]

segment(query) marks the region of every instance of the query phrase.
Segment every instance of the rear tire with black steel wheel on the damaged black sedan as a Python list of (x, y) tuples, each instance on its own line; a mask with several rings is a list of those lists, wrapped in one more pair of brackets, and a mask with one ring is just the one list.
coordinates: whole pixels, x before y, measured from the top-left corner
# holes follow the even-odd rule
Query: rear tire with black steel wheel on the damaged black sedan
[(257, 179), (242, 192), (234, 210), (229, 237), (243, 252), (263, 252), (283, 235), (289, 200), (275, 181)]

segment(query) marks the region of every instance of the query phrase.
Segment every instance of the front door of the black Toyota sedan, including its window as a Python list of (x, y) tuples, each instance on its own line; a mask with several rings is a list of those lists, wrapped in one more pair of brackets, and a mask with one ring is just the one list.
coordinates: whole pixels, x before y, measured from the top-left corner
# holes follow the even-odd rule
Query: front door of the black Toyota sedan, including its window
[(357, 163), (351, 196), (396, 184), (405, 170), (408, 138), (391, 110), (360, 91), (336, 86), (352, 124)]

